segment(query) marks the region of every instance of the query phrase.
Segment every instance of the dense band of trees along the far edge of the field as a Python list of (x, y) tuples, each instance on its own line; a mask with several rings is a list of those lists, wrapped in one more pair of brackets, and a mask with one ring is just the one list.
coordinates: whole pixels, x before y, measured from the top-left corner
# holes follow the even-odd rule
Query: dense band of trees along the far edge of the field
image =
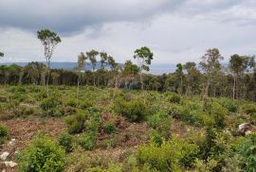
[[(98, 56), (100, 60), (97, 60)], [(85, 60), (91, 61), (92, 71), (84, 69)], [(51, 69), (49, 84), (77, 85), (79, 80), (80, 85), (172, 91), (182, 95), (202, 95), (203, 98), (227, 96), (256, 101), (254, 57), (233, 55), (228, 66), (222, 65), (221, 60), (223, 57), (219, 50), (212, 48), (206, 51), (199, 64), (192, 61), (179, 63), (174, 73), (155, 76), (142, 74), (140, 65), (131, 60), (119, 65), (105, 52), (91, 50), (79, 55), (75, 70)], [(101, 69), (98, 70), (95, 69), (97, 61), (101, 63)], [(106, 66), (109, 66), (108, 69)], [(149, 70), (149, 65), (147, 67)], [(39, 62), (29, 62), (25, 67), (2, 65), (0, 83), (45, 85), (46, 74), (46, 65)]]

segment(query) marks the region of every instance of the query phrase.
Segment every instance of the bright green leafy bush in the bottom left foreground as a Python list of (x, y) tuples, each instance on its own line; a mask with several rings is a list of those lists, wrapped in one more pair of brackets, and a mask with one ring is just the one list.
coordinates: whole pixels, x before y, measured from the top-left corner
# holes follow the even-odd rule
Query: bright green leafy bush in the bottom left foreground
[(18, 155), (21, 171), (64, 171), (64, 150), (46, 135), (38, 135)]

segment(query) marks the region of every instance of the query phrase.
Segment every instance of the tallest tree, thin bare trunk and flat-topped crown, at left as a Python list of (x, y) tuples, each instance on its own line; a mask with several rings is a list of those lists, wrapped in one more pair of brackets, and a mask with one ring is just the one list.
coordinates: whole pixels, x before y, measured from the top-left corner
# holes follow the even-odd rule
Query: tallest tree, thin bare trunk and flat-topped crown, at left
[(46, 79), (46, 93), (49, 95), (49, 77), (50, 77), (50, 60), (53, 54), (53, 50), (58, 43), (61, 43), (62, 40), (55, 32), (49, 29), (42, 29), (37, 31), (37, 38), (41, 41), (44, 46), (46, 66), (47, 66), (47, 79)]

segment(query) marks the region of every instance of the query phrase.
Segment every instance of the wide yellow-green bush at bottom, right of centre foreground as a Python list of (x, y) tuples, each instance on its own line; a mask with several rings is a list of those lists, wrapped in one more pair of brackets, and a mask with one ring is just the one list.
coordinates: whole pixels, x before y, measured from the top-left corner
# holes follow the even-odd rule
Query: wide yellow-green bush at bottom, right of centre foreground
[(155, 142), (140, 146), (137, 156), (139, 163), (149, 164), (151, 170), (180, 171), (182, 165), (189, 166), (195, 161), (190, 158), (192, 158), (192, 152), (196, 151), (197, 146), (173, 138), (168, 142), (163, 142), (161, 146), (156, 145)]

